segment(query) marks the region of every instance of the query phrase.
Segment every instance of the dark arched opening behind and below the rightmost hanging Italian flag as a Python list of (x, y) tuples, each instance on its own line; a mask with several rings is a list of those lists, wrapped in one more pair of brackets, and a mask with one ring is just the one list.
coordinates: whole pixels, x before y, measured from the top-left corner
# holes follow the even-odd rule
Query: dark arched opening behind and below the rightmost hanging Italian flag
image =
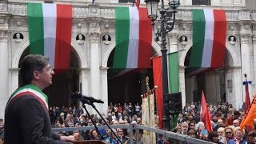
[[(193, 46), (186, 53), (184, 66), (189, 66), (190, 54)], [(231, 51), (232, 52), (232, 51)], [(230, 50), (226, 50), (224, 66), (217, 70), (206, 71), (201, 74), (187, 76), (185, 78), (186, 102), (200, 102), (202, 90), (206, 96), (206, 101), (216, 104), (217, 102), (226, 102), (226, 71), (234, 66), (234, 61)]]

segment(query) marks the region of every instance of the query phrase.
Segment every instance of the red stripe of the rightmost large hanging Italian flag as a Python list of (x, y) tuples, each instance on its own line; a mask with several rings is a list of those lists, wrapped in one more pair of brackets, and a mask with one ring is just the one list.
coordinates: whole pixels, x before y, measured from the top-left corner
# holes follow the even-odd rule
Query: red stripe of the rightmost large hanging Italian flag
[[(220, 33), (221, 31), (221, 33)], [(214, 10), (214, 43), (211, 68), (224, 66), (226, 52), (226, 15), (224, 10)]]

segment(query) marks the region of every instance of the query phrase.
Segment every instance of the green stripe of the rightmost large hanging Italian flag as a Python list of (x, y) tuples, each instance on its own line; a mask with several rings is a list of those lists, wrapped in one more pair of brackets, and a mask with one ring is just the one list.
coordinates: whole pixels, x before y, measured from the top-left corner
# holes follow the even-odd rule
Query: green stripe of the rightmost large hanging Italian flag
[(206, 20), (203, 10), (192, 10), (193, 14), (193, 48), (189, 67), (201, 67), (202, 51), (205, 39)]

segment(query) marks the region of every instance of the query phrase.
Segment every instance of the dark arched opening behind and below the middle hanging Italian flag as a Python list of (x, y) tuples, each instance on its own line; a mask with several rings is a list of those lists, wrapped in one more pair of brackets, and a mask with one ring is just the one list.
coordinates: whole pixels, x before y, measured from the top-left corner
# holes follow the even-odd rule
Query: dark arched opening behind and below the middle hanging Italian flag
[[(152, 48), (152, 57), (158, 55)], [(145, 78), (150, 78), (149, 87), (154, 88), (152, 62), (151, 67), (146, 69), (130, 70), (126, 74), (118, 75), (120, 71), (111, 68), (114, 61), (114, 50), (111, 51), (107, 61), (108, 70), (108, 102), (114, 103), (142, 103), (141, 94), (146, 93)]]

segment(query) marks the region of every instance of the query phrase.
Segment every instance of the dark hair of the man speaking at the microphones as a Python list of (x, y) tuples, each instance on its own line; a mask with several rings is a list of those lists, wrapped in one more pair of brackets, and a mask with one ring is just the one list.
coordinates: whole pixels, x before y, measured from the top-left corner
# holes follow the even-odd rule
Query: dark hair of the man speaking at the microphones
[(46, 58), (38, 54), (29, 54), (23, 58), (21, 63), (21, 77), (22, 86), (30, 84), (34, 78), (34, 70), (42, 70), (49, 62), (49, 58)]

